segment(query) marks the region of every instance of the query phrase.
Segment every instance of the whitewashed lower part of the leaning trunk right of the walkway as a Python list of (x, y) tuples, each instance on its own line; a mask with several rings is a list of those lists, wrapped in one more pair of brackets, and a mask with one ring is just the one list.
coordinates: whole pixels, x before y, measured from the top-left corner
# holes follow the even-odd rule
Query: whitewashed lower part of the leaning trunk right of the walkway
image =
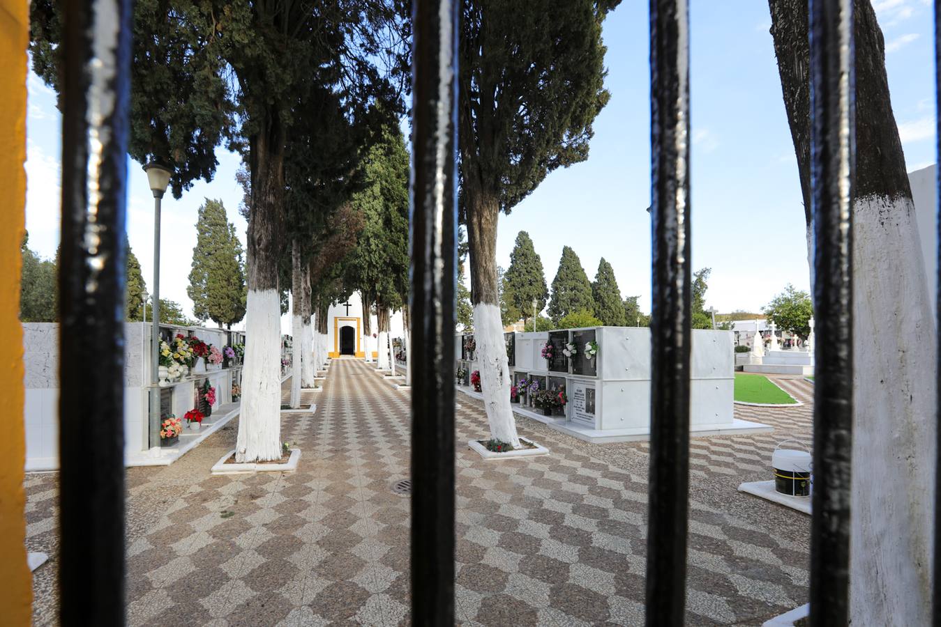
[(499, 306), (478, 303), (473, 307), (473, 335), (490, 435), (517, 448), (519, 436), (510, 407), (510, 368)]

